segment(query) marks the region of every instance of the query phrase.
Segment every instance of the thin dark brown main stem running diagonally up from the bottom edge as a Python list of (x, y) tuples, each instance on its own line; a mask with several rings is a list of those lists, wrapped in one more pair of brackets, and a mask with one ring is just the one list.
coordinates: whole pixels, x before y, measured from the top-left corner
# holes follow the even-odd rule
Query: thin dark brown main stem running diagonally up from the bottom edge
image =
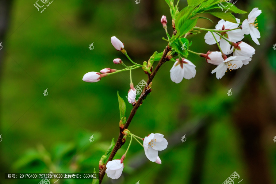
[[(171, 48), (169, 47), (169, 45), (166, 47), (166, 49), (164, 50), (163, 52), (163, 56), (162, 58), (160, 59), (159, 63), (157, 64), (157, 66), (155, 67), (154, 71), (151, 73), (151, 75), (148, 75), (148, 81), (147, 83), (150, 84), (153, 80), (153, 78), (155, 77), (157, 71), (160, 69), (160, 67), (166, 62), (168, 61), (168, 57), (167, 57), (167, 54), (171, 51)], [(143, 90), (143, 93), (146, 92), (146, 86), (144, 87), (144, 90)], [(143, 94), (142, 93), (142, 94)], [(147, 95), (149, 94), (149, 92), (146, 92), (144, 94), (144, 98), (139, 98), (139, 100), (135, 103), (134, 107), (132, 108), (131, 112), (130, 112), (130, 115), (124, 125), (124, 128), (122, 130), (120, 130), (120, 133), (119, 133), (119, 136), (118, 136), (118, 139), (116, 141), (116, 144), (108, 158), (108, 160), (106, 161), (106, 163), (108, 163), (109, 161), (113, 160), (115, 154), (117, 153), (117, 151), (122, 147), (122, 145), (124, 144), (124, 142), (122, 141), (123, 140), (123, 137), (124, 137), (124, 134), (122, 133), (123, 130), (127, 129), (128, 126), (130, 125), (131, 121), (132, 121), (132, 118), (134, 117), (134, 115), (136, 114), (137, 112), (137, 109), (140, 107), (140, 105), (142, 105), (142, 102), (143, 100), (147, 97)], [(105, 176), (105, 170), (106, 170), (106, 166), (104, 165), (102, 170), (100, 171), (100, 174), (99, 174), (99, 182), (100, 184), (102, 183), (102, 179), (104, 178)]]

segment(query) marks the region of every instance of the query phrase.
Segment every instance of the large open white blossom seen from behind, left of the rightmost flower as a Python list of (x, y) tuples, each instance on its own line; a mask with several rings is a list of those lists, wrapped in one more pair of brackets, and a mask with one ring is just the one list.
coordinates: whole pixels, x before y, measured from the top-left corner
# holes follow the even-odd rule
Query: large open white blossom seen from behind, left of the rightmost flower
[[(240, 19), (236, 19), (236, 21), (238, 23), (240, 23)], [(237, 24), (237, 23), (232, 23), (232, 22), (229, 22), (229, 21), (220, 20), (220, 21), (218, 21), (215, 30), (235, 29), (239, 25), (240, 24)], [(235, 42), (235, 43), (244, 38), (244, 35), (243, 35), (243, 32), (242, 32), (241, 29), (236, 29), (236, 30), (226, 31), (226, 32), (218, 32), (218, 33), (221, 36), (223, 36), (224, 38), (226, 38), (227, 40)], [(216, 37), (217, 41), (220, 43), (220, 48), (221, 48), (222, 52), (224, 54), (231, 54), (231, 52), (230, 52), (231, 45), (226, 40), (224, 40), (219, 35), (217, 35), (216, 33), (214, 33), (214, 36)], [(206, 44), (209, 44), (209, 45), (216, 44), (217, 42), (214, 39), (214, 36), (211, 32), (208, 31), (206, 33), (206, 35), (204, 36)]]

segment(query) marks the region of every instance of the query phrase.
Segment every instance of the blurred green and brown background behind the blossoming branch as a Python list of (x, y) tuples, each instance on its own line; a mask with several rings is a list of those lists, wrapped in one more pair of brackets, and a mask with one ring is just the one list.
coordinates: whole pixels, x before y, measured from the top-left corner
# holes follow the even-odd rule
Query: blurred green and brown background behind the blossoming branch
[[(117, 36), (137, 63), (162, 52), (166, 34), (160, 23), (171, 17), (164, 0), (90, 1), (55, 0), (37, 11), (35, 0), (1, 0), (1, 129), (0, 183), (39, 183), (40, 180), (4, 180), (5, 172), (93, 172), (117, 140), (120, 114), (117, 91), (127, 102), (129, 73), (121, 72), (87, 83), (82, 76), (103, 68), (123, 69), (114, 58), (131, 63), (110, 42)], [(152, 84), (151, 95), (132, 120), (137, 136), (162, 133), (169, 146), (159, 152), (162, 164), (150, 162), (144, 149), (133, 142), (121, 178), (103, 183), (223, 183), (234, 171), (243, 184), (276, 183), (276, 51), (273, 0), (236, 2), (248, 13), (259, 7), (261, 38), (257, 46), (249, 35), (244, 41), (256, 49), (252, 61), (217, 80), (216, 67), (190, 54), (197, 67), (195, 78), (175, 84), (173, 62), (165, 63)], [(180, 9), (187, 5), (180, 1)], [(247, 14), (236, 15), (241, 21)], [(214, 29), (201, 19), (198, 27)], [(207, 45), (205, 32), (187, 36), (195, 52), (218, 51)], [(94, 49), (89, 45), (94, 43)], [(147, 75), (133, 71), (137, 85)], [(43, 91), (48, 88), (48, 95)], [(232, 88), (232, 96), (227, 91)], [(132, 105), (127, 103), (129, 114)], [(89, 137), (94, 135), (94, 142)], [(186, 135), (186, 142), (181, 137)], [(129, 139), (117, 152), (124, 154)], [(238, 181), (237, 181), (238, 182)], [(60, 184), (92, 183), (59, 180)], [(236, 180), (235, 180), (236, 184)]]

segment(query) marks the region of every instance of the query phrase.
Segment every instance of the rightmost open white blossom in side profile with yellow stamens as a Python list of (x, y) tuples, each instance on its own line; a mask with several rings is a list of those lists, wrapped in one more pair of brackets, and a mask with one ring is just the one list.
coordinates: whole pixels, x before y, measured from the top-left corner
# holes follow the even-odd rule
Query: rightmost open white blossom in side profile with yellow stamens
[(248, 14), (248, 18), (243, 21), (242, 31), (244, 34), (250, 34), (252, 40), (259, 45), (258, 38), (261, 37), (260, 32), (258, 30), (257, 17), (262, 13), (258, 8), (253, 8), (253, 10)]

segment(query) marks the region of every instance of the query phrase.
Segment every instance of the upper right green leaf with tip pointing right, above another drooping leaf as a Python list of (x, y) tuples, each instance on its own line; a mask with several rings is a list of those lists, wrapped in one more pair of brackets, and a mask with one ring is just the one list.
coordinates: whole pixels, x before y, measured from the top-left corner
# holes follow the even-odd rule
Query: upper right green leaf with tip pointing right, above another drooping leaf
[(213, 5), (204, 10), (204, 13), (247, 13), (246, 11), (238, 9), (235, 5), (227, 2), (221, 3), (223, 6)]

